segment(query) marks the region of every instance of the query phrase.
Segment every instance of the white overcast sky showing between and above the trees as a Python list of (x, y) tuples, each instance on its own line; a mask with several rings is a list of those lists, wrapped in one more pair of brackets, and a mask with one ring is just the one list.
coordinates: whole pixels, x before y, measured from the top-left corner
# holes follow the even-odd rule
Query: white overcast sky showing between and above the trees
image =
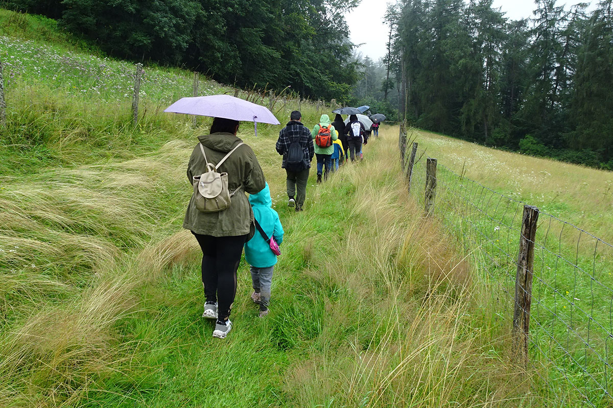
[[(557, 5), (576, 4), (578, 2), (580, 1), (558, 0)], [(595, 4), (595, 1), (592, 1), (592, 3)], [(351, 42), (354, 44), (364, 43), (358, 51), (375, 61), (385, 55), (385, 45), (389, 38), (389, 26), (383, 21), (383, 15), (386, 11), (385, 4), (385, 0), (362, 0), (360, 6), (345, 15), (351, 31)], [(532, 17), (532, 10), (536, 8), (533, 0), (493, 0), (493, 7), (501, 7), (502, 12), (506, 13), (506, 17), (512, 20)]]

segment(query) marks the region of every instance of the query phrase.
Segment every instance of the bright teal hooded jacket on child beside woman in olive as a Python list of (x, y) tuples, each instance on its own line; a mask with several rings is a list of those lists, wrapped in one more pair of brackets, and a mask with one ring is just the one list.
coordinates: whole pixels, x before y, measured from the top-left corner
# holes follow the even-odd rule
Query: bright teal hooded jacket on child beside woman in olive
[[(249, 202), (253, 208), (254, 217), (268, 238), (275, 237), (276, 243), (281, 244), (283, 226), (281, 226), (279, 214), (272, 209), (268, 183), (259, 193), (249, 195)], [(245, 243), (245, 259), (249, 265), (256, 268), (268, 268), (276, 264), (276, 255), (270, 250), (270, 244), (264, 240), (257, 229), (253, 238)]]

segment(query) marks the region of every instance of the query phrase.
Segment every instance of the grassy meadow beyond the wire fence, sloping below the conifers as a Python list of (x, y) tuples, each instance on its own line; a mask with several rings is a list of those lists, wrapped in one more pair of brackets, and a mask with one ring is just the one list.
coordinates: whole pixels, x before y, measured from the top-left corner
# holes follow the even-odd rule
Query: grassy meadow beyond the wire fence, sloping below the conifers
[(437, 158), (435, 214), (465, 251), (479, 248), (476, 263), (490, 284), (498, 286), (501, 320), (512, 314), (524, 202), (543, 212), (535, 239), (531, 363), (541, 367), (548, 387), (564, 379), (592, 404), (607, 401), (613, 332), (613, 247), (607, 242), (613, 242), (613, 173), (418, 130), (409, 134), (419, 143), (417, 156), (425, 150), (416, 166), (414, 197), (424, 200), (425, 157)]

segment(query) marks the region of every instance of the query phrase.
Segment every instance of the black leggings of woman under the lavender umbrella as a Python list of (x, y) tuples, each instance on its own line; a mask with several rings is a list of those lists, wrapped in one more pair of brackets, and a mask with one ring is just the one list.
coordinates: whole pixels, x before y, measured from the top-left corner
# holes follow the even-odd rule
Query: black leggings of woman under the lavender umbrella
[(226, 320), (236, 296), (236, 271), (246, 235), (213, 237), (192, 231), (202, 249), (202, 284), (207, 302), (218, 302), (218, 319)]

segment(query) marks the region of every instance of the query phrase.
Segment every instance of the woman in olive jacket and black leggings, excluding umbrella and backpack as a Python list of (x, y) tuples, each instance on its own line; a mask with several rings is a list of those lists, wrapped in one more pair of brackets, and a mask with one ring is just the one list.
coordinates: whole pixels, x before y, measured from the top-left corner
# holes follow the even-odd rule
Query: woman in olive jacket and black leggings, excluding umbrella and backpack
[[(236, 295), (238, 262), (249, 237), (253, 211), (245, 196), (265, 187), (264, 172), (251, 147), (237, 138), (238, 121), (215, 117), (210, 135), (199, 136), (188, 164), (188, 180), (209, 170), (227, 173), (230, 206), (204, 212), (196, 193), (189, 201), (183, 228), (189, 229), (202, 249), (202, 284), (206, 302), (203, 317), (216, 319), (213, 337), (225, 338), (232, 329), (230, 309)], [(199, 187), (199, 185), (196, 185)], [(202, 197), (200, 197), (202, 198)]]

